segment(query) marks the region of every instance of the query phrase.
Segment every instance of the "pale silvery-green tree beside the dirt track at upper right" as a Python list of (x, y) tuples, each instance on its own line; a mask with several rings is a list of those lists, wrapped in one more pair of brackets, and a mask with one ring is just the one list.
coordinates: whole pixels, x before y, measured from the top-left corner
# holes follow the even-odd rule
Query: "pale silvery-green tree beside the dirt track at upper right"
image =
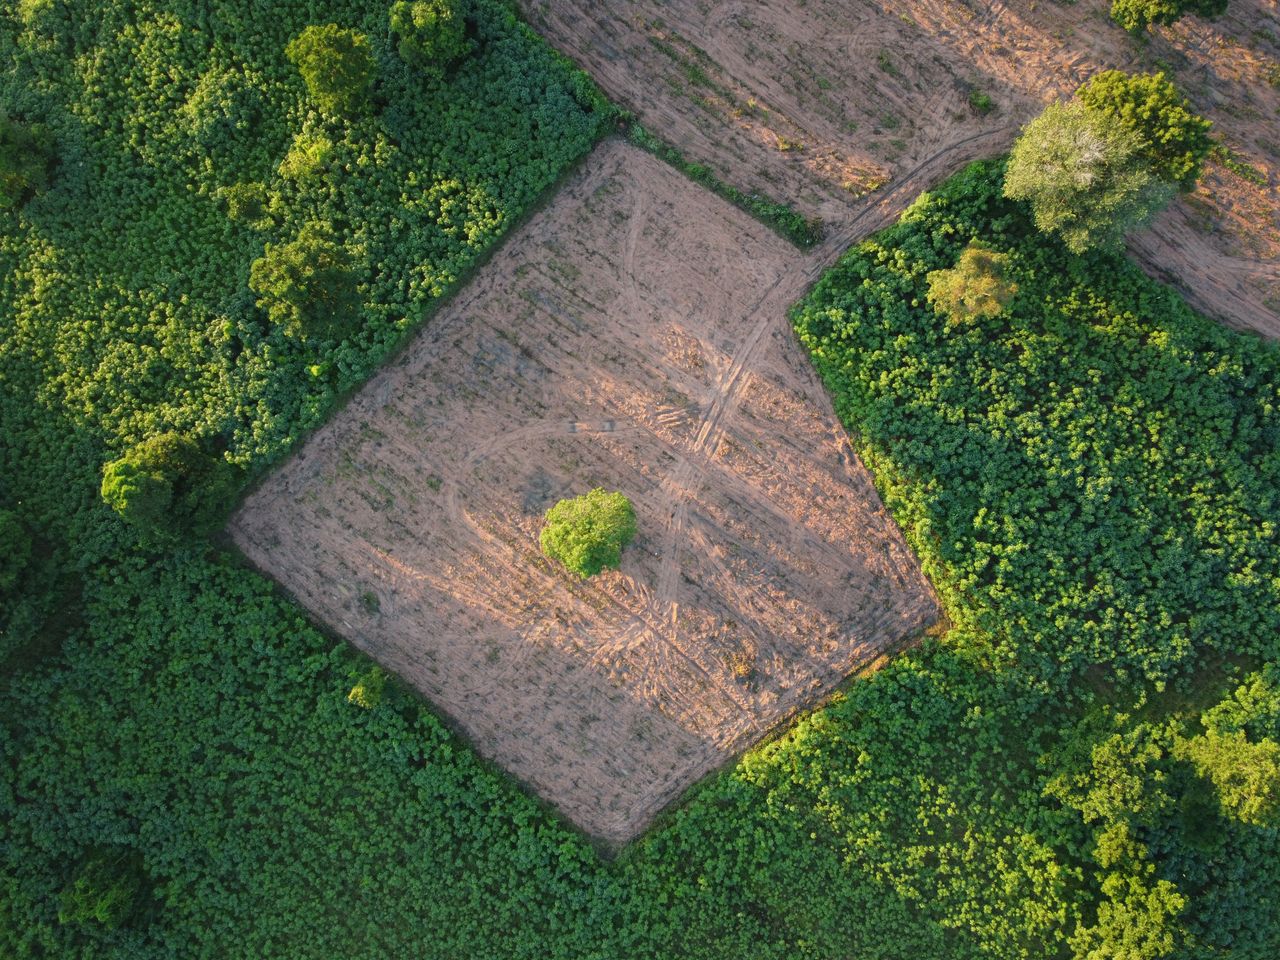
[(1027, 124), (1005, 170), (1005, 196), (1028, 201), (1036, 225), (1076, 253), (1119, 250), (1172, 195), (1142, 161), (1138, 137), (1079, 100)]

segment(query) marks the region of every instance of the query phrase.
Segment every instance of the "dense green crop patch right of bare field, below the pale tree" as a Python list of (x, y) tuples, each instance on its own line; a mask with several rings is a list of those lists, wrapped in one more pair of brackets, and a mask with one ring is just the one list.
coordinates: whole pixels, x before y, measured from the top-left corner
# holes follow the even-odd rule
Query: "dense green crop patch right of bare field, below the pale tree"
[[(1020, 294), (956, 335), (928, 308), (927, 278), (974, 238), (1007, 255)], [(1000, 197), (997, 165), (849, 256), (797, 325), (895, 516), (993, 657), (1158, 681), (1211, 650), (1270, 652), (1274, 347), (1121, 259), (1037, 236)]]

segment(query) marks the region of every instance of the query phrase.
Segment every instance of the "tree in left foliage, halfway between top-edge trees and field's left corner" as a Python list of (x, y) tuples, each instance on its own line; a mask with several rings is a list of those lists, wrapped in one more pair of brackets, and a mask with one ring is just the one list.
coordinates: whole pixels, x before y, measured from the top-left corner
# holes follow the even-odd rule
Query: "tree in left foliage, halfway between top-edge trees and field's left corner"
[(268, 316), (294, 337), (339, 339), (357, 319), (355, 257), (319, 223), (288, 243), (268, 243), (250, 266), (248, 285)]

